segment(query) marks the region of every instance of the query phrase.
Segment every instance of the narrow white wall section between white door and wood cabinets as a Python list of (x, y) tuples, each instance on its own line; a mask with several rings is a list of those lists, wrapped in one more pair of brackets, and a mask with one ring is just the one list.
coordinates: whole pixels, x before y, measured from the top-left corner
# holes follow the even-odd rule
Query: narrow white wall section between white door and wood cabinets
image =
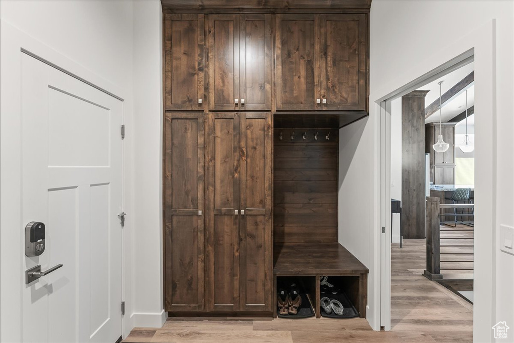
[(134, 208), (132, 246), (135, 327), (161, 327), (162, 300), (162, 11), (134, 2)]

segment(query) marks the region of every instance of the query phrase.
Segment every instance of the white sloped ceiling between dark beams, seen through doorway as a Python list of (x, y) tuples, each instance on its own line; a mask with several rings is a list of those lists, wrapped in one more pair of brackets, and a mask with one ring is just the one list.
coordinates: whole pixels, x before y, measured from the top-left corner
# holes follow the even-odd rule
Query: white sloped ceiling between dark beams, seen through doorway
[[(425, 107), (428, 107), (431, 103), (439, 99), (439, 85), (437, 84), (439, 81), (443, 81), (442, 84), (442, 93), (444, 94), (448, 89), (455, 86), (458, 82), (464, 79), (471, 71), (474, 70), (474, 63), (471, 62), (457, 70), (452, 71), (449, 74), (444, 75), (443, 77), (423, 86), (419, 87), (417, 90), (429, 90), (427, 96), (425, 97)], [(468, 108), (474, 105), (474, 83), (467, 88), (468, 90)], [(464, 112), (466, 110), (466, 92), (458, 94), (447, 104), (443, 104), (442, 108), (442, 121), (447, 122), (458, 114)], [(439, 111), (433, 113), (430, 117), (425, 120), (425, 123), (432, 123), (439, 121)], [(470, 124), (468, 120), (468, 124)]]

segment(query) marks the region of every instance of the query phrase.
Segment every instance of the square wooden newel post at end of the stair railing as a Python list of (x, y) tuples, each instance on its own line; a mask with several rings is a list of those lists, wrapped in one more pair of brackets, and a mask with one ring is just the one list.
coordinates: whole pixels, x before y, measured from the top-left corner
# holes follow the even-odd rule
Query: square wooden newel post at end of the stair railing
[(427, 230), (427, 269), (423, 276), (430, 280), (442, 279), (439, 254), (439, 198), (427, 197), (425, 223)]

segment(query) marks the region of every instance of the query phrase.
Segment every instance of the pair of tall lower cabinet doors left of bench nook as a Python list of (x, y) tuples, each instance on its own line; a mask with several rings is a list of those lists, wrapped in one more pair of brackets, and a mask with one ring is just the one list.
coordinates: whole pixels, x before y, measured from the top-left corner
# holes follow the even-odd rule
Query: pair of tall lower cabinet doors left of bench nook
[(206, 141), (211, 311), (270, 311), (270, 113), (210, 113)]

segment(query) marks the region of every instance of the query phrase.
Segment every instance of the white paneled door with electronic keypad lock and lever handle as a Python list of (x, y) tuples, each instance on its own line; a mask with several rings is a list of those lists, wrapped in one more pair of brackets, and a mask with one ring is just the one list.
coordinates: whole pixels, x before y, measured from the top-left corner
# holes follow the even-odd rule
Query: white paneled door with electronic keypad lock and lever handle
[(26, 342), (121, 335), (121, 101), (22, 53), (22, 219), (46, 224), (24, 270)]

